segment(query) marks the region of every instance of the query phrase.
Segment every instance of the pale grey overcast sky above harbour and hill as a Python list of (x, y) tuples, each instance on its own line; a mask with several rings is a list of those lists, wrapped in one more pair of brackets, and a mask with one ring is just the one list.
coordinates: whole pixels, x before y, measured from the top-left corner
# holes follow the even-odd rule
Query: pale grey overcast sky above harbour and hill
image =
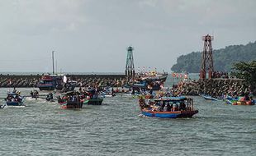
[(0, 72), (170, 71), (177, 57), (256, 40), (255, 0), (1, 0)]

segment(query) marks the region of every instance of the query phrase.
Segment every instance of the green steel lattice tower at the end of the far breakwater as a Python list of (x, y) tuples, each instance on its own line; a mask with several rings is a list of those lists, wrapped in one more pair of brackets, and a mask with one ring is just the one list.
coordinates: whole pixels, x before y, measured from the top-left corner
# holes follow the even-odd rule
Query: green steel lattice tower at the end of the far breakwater
[(133, 48), (130, 46), (127, 48), (126, 57), (126, 76), (127, 78), (135, 78), (135, 65), (133, 62)]

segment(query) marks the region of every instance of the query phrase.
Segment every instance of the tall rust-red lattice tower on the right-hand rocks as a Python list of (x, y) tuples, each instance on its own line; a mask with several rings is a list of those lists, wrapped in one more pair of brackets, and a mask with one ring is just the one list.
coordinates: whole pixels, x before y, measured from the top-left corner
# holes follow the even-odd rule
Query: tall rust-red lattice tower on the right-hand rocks
[(201, 39), (204, 41), (204, 47), (201, 54), (200, 79), (206, 79), (206, 71), (208, 71), (208, 78), (211, 79), (212, 72), (214, 71), (211, 48), (211, 41), (213, 40), (213, 36), (207, 34), (206, 36), (202, 36)]

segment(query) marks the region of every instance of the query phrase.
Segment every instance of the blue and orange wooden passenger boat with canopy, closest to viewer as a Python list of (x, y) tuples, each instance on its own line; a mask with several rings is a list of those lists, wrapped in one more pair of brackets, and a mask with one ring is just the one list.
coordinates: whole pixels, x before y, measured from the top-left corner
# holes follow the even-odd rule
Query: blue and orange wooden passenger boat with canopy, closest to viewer
[(160, 118), (192, 117), (198, 113), (198, 110), (194, 109), (193, 99), (185, 97), (154, 99), (148, 104), (145, 103), (145, 99), (140, 99), (140, 111), (147, 117)]

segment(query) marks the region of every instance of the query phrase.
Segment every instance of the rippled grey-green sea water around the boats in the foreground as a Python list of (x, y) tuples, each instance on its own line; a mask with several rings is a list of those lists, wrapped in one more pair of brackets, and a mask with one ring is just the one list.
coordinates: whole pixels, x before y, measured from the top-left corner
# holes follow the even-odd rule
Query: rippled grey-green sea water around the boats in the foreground
[[(0, 97), (7, 90), (0, 89)], [(0, 155), (255, 154), (255, 106), (192, 98), (199, 112), (182, 119), (144, 117), (130, 95), (82, 109), (26, 99), (24, 108), (0, 109)]]

